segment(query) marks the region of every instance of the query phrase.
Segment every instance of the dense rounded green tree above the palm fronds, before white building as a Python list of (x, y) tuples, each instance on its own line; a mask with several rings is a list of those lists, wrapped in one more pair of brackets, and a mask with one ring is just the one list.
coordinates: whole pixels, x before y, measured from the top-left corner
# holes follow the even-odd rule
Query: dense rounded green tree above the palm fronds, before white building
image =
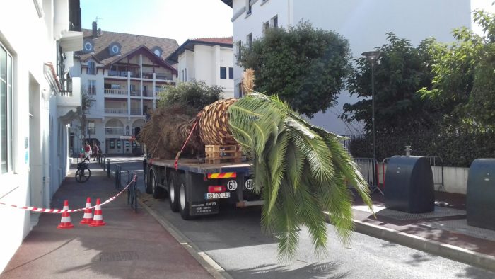
[(337, 103), (349, 73), (349, 42), (337, 33), (313, 28), (270, 28), (242, 48), (238, 64), (255, 70), (255, 90), (278, 95), (308, 117)]

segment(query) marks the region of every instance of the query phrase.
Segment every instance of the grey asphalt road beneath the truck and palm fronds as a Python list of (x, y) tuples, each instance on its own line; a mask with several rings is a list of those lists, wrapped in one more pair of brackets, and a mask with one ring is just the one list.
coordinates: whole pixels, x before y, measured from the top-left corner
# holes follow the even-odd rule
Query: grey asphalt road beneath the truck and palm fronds
[[(123, 169), (142, 169), (141, 161), (115, 161)], [(276, 240), (262, 232), (259, 207), (221, 207), (219, 215), (185, 221), (170, 211), (168, 200), (141, 193), (146, 205), (233, 278), (495, 278), (495, 273), (364, 234), (354, 233), (351, 245), (344, 246), (330, 224), (325, 256), (314, 255), (308, 232), (302, 229), (295, 261), (284, 265), (277, 261)]]

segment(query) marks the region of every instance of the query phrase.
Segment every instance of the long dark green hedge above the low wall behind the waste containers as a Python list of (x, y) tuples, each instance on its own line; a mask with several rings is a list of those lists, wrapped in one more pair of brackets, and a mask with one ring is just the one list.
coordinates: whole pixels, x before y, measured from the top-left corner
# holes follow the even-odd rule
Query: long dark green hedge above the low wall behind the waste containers
[[(378, 161), (394, 155), (405, 155), (405, 146), (411, 146), (412, 156), (440, 156), (443, 166), (469, 167), (474, 159), (495, 158), (495, 132), (425, 131), (414, 135), (376, 135)], [(354, 157), (373, 157), (371, 135), (352, 137), (349, 149)]]

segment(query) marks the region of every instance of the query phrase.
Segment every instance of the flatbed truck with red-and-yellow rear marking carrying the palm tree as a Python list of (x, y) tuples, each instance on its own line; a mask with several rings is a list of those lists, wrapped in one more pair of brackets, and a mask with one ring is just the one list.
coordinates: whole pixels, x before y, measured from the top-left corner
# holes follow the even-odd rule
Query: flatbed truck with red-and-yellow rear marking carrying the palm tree
[(236, 207), (262, 205), (253, 191), (249, 163), (209, 164), (198, 159), (175, 160), (144, 158), (146, 193), (166, 198), (173, 212), (182, 219), (219, 213), (220, 203)]

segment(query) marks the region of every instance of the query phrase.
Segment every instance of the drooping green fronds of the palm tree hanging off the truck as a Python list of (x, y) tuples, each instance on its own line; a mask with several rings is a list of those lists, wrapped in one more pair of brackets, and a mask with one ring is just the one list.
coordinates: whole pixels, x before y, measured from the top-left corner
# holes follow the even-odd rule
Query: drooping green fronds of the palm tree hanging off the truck
[(235, 140), (252, 158), (255, 190), (264, 200), (262, 227), (279, 240), (280, 261), (296, 256), (299, 230), (307, 227), (316, 254), (327, 244), (325, 220), (348, 244), (354, 229), (354, 186), (371, 208), (366, 181), (340, 141), (310, 125), (276, 96), (252, 92), (228, 108)]

